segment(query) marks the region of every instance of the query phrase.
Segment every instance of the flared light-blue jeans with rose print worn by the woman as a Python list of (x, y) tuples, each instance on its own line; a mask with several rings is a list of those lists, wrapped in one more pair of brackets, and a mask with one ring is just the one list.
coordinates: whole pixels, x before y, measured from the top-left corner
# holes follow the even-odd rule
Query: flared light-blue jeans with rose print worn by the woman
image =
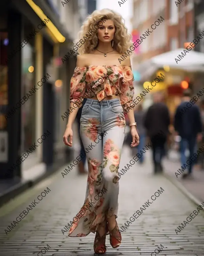
[(69, 230), (70, 237), (95, 233), (107, 218), (117, 218), (118, 169), (126, 126), (125, 119), (118, 117), (122, 112), (119, 99), (87, 99), (83, 106), (80, 134), (88, 161), (88, 178), (84, 205)]

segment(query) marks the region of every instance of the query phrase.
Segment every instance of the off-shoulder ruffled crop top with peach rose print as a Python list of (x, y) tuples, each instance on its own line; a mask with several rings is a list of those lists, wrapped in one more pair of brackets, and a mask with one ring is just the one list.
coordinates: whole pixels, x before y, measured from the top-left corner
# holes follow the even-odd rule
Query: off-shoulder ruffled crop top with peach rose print
[(76, 67), (70, 82), (70, 102), (82, 106), (84, 98), (119, 95), (123, 110), (130, 107), (134, 95), (131, 66)]

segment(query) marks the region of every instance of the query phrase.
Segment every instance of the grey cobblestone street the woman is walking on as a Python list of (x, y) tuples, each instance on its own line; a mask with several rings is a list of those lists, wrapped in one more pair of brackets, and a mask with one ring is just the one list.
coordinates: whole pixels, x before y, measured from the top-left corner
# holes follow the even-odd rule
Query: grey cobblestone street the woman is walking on
[[(165, 177), (152, 175), (150, 152), (145, 156), (144, 165), (135, 163), (121, 176), (117, 220), (119, 227), (130, 221), (130, 217), (160, 187), (164, 192), (122, 232), (120, 247), (113, 249), (107, 237), (108, 249), (105, 255), (151, 255), (160, 244), (165, 248), (159, 256), (204, 255), (204, 214), (201, 211), (176, 235), (175, 229), (196, 207)], [(125, 147), (120, 169), (131, 158), (129, 149)], [(62, 234), (61, 229), (84, 202), (87, 179), (86, 176), (78, 176), (74, 169), (63, 178), (62, 170), (0, 209), (0, 256), (37, 255), (47, 244), (50, 248), (42, 254), (45, 256), (94, 255), (94, 234), (82, 238)], [(51, 190), (49, 194), (6, 235), (4, 229), (47, 187)]]

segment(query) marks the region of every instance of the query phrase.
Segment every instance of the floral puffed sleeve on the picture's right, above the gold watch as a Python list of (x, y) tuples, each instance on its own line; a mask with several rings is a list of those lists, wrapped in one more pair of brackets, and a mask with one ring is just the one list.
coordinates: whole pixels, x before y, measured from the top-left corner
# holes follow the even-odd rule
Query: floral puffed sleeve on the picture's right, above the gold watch
[[(125, 111), (126, 108), (131, 108), (131, 103), (133, 103), (134, 96), (134, 76), (131, 70), (131, 66), (122, 67), (123, 71), (123, 79), (121, 82), (121, 94), (120, 94), (120, 102)], [(133, 103), (134, 104), (134, 103)]]

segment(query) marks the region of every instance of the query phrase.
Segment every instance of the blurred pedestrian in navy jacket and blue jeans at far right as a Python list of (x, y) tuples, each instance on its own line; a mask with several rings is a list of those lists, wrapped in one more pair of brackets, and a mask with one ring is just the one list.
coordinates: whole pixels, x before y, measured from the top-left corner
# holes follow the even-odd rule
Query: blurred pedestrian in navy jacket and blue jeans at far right
[[(196, 139), (202, 140), (202, 120), (198, 105), (191, 102), (191, 90), (183, 91), (183, 100), (177, 107), (174, 117), (175, 135), (181, 136), (180, 150), (182, 166), (187, 163), (186, 150), (189, 150), (189, 157), (195, 153)], [(188, 170), (183, 172), (182, 177), (192, 176), (194, 161), (189, 164)]]

